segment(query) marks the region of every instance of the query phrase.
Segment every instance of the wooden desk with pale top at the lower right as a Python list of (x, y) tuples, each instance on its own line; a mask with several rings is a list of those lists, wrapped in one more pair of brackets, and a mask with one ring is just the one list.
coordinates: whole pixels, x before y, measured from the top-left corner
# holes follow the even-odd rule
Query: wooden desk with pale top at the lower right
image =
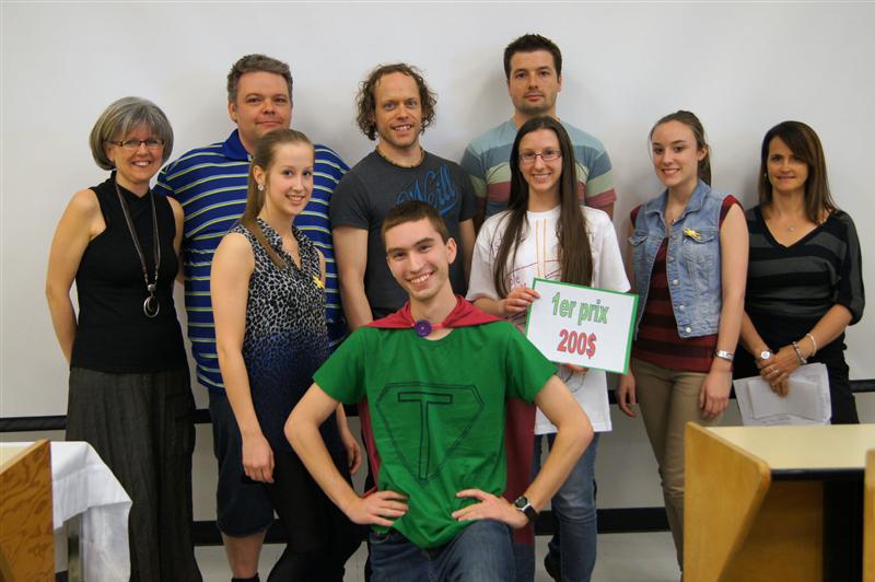
[[(825, 580), (825, 571), (835, 566), (835, 550), (842, 549), (830, 547), (835, 532), (841, 537), (854, 534), (839, 528), (833, 513), (841, 511), (830, 510), (837, 497), (830, 491), (850, 486), (862, 493), (875, 424), (688, 423), (685, 446), (686, 581)], [(856, 501), (851, 521), (862, 529), (862, 494)], [(855, 552), (859, 557), (862, 547)]]

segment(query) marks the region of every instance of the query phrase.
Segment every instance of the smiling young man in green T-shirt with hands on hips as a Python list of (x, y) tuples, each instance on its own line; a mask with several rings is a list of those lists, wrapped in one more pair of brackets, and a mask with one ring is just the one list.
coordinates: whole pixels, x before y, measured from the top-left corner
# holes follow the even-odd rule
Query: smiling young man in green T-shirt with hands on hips
[[(350, 336), (316, 372), (285, 435), (314, 479), (355, 523), (372, 524), (373, 582), (512, 581), (510, 528), (526, 526), (592, 440), (583, 409), (511, 324), (456, 296), (456, 243), (428, 203), (383, 224), (386, 260), (409, 303)], [(339, 403), (368, 399), (377, 491), (359, 497), (319, 435)], [(534, 401), (558, 433), (515, 503), (505, 488), (505, 400)], [(427, 550), (427, 551), (422, 551)]]

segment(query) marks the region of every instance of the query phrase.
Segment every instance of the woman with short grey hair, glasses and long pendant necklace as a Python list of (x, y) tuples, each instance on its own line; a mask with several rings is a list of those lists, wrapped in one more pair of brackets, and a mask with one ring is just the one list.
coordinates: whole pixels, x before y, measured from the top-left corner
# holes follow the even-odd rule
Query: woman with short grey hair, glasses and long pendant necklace
[(197, 581), (195, 403), (173, 303), (183, 210), (150, 187), (173, 150), (173, 129), (152, 102), (124, 97), (103, 112), (89, 142), (94, 161), (112, 173), (73, 195), (46, 278), (70, 365), (67, 439), (94, 446), (133, 502), (130, 580)]

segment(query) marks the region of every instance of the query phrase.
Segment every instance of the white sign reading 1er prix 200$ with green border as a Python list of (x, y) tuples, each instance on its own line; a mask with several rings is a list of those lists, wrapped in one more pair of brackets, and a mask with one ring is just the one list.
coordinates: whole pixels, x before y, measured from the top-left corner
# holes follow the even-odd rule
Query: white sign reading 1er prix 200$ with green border
[(535, 279), (526, 337), (550, 361), (625, 374), (638, 295)]

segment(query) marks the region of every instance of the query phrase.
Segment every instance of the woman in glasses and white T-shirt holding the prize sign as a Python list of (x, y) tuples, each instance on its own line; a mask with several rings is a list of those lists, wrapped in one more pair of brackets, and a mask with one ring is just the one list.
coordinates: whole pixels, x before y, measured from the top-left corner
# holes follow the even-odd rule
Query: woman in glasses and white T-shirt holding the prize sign
[[(538, 293), (537, 278), (628, 291), (629, 281), (610, 218), (581, 207), (574, 151), (552, 117), (536, 117), (518, 130), (511, 152), (509, 209), (488, 219), (477, 237), (468, 299), (521, 329)], [(558, 372), (596, 431), (565, 484), (552, 499), (558, 540), (550, 542), (549, 569), (562, 580), (590, 580), (595, 566), (595, 455), (598, 433), (609, 431), (607, 381), (600, 370), (562, 365)], [(556, 428), (538, 410), (536, 434), (552, 446)], [(539, 459), (540, 440), (536, 439)], [(539, 462), (536, 461), (536, 467)]]

